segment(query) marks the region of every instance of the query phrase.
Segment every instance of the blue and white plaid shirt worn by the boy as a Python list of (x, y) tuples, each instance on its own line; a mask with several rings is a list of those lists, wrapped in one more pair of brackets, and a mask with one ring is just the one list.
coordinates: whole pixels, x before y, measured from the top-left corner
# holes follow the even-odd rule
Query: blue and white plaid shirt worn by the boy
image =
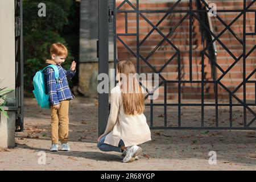
[(75, 98), (68, 86), (68, 80), (71, 80), (72, 77), (75, 76), (76, 71), (66, 71), (60, 65), (56, 66), (59, 69), (58, 83), (56, 82), (55, 73), (52, 68), (47, 68), (44, 71), (51, 105), (57, 105), (60, 104), (60, 101), (72, 100)]

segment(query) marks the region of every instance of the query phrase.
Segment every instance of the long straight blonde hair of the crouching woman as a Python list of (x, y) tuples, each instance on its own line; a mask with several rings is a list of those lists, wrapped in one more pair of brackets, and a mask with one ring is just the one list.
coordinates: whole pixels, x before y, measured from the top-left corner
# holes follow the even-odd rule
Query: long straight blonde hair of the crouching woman
[[(125, 114), (142, 114), (145, 109), (144, 94), (142, 93), (141, 85), (139, 85), (139, 80), (134, 76), (136, 74), (134, 64), (131, 63), (131, 61), (126, 60), (119, 61), (117, 69), (119, 73), (119, 81), (121, 82), (123, 109)], [(126, 79), (123, 79), (123, 76), (126, 76)], [(129, 90), (129, 92), (124, 92), (124, 90)]]

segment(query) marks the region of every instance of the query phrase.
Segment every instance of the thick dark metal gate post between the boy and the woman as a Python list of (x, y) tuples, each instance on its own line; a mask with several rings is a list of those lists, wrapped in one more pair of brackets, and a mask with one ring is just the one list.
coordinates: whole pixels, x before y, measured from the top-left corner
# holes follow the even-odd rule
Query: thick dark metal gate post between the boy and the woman
[[(98, 0), (98, 73), (109, 73), (109, 9), (106, 0)], [(105, 131), (108, 115), (109, 94), (98, 93), (99, 135)]]

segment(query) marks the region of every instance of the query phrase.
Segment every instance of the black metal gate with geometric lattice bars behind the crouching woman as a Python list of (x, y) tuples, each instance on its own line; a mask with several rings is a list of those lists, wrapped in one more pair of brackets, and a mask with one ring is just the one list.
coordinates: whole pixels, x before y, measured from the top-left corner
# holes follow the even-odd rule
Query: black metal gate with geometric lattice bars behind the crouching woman
[[(256, 35), (256, 28), (255, 28), (255, 32), (246, 32), (246, 15), (247, 13), (255, 13), (255, 20), (256, 20), (256, 10), (254, 9), (250, 9), (251, 6), (254, 5), (255, 1), (243, 1), (243, 6), (241, 6), (241, 8), (239, 9), (221, 9), (216, 11), (217, 15), (216, 18), (225, 26), (224, 30), (221, 31), (220, 34), (215, 35), (214, 32), (212, 31), (212, 27), (209, 24), (209, 22), (205, 21), (207, 20), (207, 15), (209, 13), (209, 11), (212, 9), (212, 7), (210, 7), (208, 5), (208, 2), (206, 0), (189, 0), (189, 8), (187, 10), (176, 10), (175, 7), (177, 5), (179, 5), (179, 3), (181, 2), (181, 0), (175, 1), (175, 3), (172, 4), (171, 7), (168, 7), (167, 10), (157, 10), (156, 8), (152, 8), (151, 10), (141, 10), (139, 7), (140, 5), (140, 1), (137, 0), (135, 1), (135, 3), (131, 3), (129, 0), (124, 0), (121, 3), (119, 3), (120, 1), (118, 1), (118, 6), (116, 6), (116, 1), (115, 0), (110, 0), (110, 4), (112, 4), (112, 6), (109, 6), (109, 3), (106, 2), (105, 0), (99, 0), (99, 43), (98, 43), (98, 56), (99, 56), (99, 73), (106, 73), (108, 74), (108, 69), (109, 67), (108, 65), (108, 53), (109, 53), (109, 38), (108, 38), (108, 32), (109, 32), (109, 22), (113, 22), (113, 38), (114, 38), (114, 68), (115, 65), (118, 61), (118, 56), (117, 56), (117, 40), (119, 43), (122, 44), (122, 46), (124, 48), (127, 49), (127, 51), (129, 53), (131, 53), (131, 55), (133, 55), (137, 61), (136, 61), (136, 65), (137, 65), (137, 72), (140, 73), (141, 72), (141, 63), (146, 64), (148, 68), (151, 69), (152, 73), (159, 73), (159, 77), (161, 78), (161, 82), (159, 84), (159, 86), (163, 85), (164, 86), (164, 99), (162, 103), (154, 103), (154, 100), (151, 100), (150, 103), (147, 104), (148, 107), (150, 107), (150, 127), (151, 129), (207, 129), (207, 130), (226, 130), (226, 129), (232, 129), (232, 130), (255, 130), (256, 127), (251, 127), (252, 124), (254, 123), (255, 119), (256, 119), (256, 114), (255, 114), (255, 110), (253, 109), (253, 106), (256, 106), (256, 101), (254, 103), (247, 103), (246, 102), (246, 84), (250, 83), (250, 84), (255, 84), (256, 85), (256, 81), (253, 80), (249, 80), (249, 78), (251, 78), (254, 73), (256, 72), (256, 69), (254, 69), (253, 72), (251, 72), (249, 74), (249, 76), (246, 76), (246, 59), (247, 57), (255, 50), (256, 45), (250, 49), (249, 52), (246, 53), (246, 36), (247, 35)], [(195, 7), (192, 6), (192, 3), (197, 5), (197, 8), (195, 9)], [(122, 6), (127, 5), (129, 6), (129, 9), (122, 9)], [(203, 8), (203, 6), (204, 8)], [(154, 24), (151, 22), (150, 19), (148, 19), (144, 14), (150, 14), (150, 13), (164, 13), (164, 16), (162, 19), (159, 20), (158, 23)], [(185, 13), (185, 16), (181, 17), (180, 20), (176, 23), (175, 26), (172, 26), (170, 28), (170, 31), (168, 32), (167, 35), (164, 35), (163, 32), (160, 30), (159, 28), (159, 24), (161, 24), (164, 19), (166, 19), (166, 17), (170, 14), (175, 14), (175, 13)], [(224, 20), (222, 20), (222, 18), (220, 16), (218, 16), (218, 13), (238, 13), (237, 16), (233, 17), (232, 22), (230, 23), (225, 23)], [(119, 26), (118, 22), (117, 22), (117, 17), (119, 16), (119, 14), (125, 14), (125, 18), (124, 18), (124, 23), (125, 24), (125, 32), (122, 33), (118, 33), (117, 32), (117, 27)], [(129, 32), (129, 22), (128, 22), (128, 18), (127, 16), (129, 14), (136, 14), (136, 19), (134, 20), (135, 26), (136, 26), (136, 32)], [(242, 17), (243, 18), (243, 24), (242, 24), (242, 39), (239, 38), (239, 36), (236, 35), (236, 33), (232, 30), (232, 24), (234, 22), (236, 22), (236, 20), (238, 18)], [(146, 35), (146, 37), (143, 38), (143, 40), (141, 40), (141, 38), (139, 37), (139, 33), (140, 33), (140, 27), (139, 27), (139, 19), (142, 18), (143, 20), (145, 20), (148, 24), (150, 24), (151, 26), (151, 30), (148, 32), (148, 34)], [(172, 43), (172, 40), (169, 39), (169, 37), (175, 32), (176, 28), (180, 26), (180, 24), (184, 21), (184, 19), (189, 19), (189, 78), (187, 80), (182, 80), (181, 79), (181, 53), (180, 53), (180, 49), (177, 48), (175, 46), (175, 44)], [(207, 44), (204, 44), (204, 47), (201, 51), (201, 63), (200, 63), (200, 68), (201, 68), (201, 80), (193, 80), (192, 78), (192, 21), (193, 19), (196, 19), (199, 23), (200, 23), (200, 31), (202, 34), (202, 39), (204, 39)], [(255, 22), (254, 22), (255, 23)], [(256, 26), (255, 26), (256, 27)], [(224, 34), (224, 32), (228, 30), (231, 32), (231, 34), (234, 36), (234, 38), (236, 38), (238, 40), (238, 42), (240, 42), (241, 46), (242, 46), (242, 54), (240, 56), (234, 56), (234, 54), (229, 50), (228, 47), (225, 46), (225, 43), (223, 43), (220, 40), (220, 36), (222, 34)], [(158, 34), (160, 34), (162, 36), (162, 41), (159, 42), (156, 47), (147, 55), (147, 56), (142, 56), (142, 54), (140, 53), (141, 51), (141, 46), (143, 44), (143, 42), (152, 34), (152, 32), (156, 31)], [(134, 49), (132, 49), (130, 46), (128, 46), (128, 44), (122, 40), (123, 36), (136, 36), (137, 38), (137, 42), (136, 42), (136, 48), (135, 51)], [(168, 61), (166, 61), (166, 63), (164, 65), (162, 65), (162, 68), (160, 68), (159, 70), (156, 70), (156, 68), (154, 67), (154, 65), (152, 65), (150, 63), (150, 61), (148, 60), (150, 58), (150, 56), (152, 54), (154, 54), (154, 52), (156, 51), (157, 48), (159, 48), (159, 46), (161, 46), (161, 44), (163, 42), (167, 42), (168, 44), (170, 44), (176, 51), (176, 53), (174, 54), (174, 56), (172, 56)], [(229, 53), (230, 57), (232, 57), (233, 64), (230, 65), (230, 67), (228, 69), (226, 69), (226, 71), (224, 71), (224, 69), (222, 69), (220, 67), (220, 65), (217, 63), (217, 57), (216, 57), (216, 42), (218, 42), (223, 49), (225, 49), (226, 52)], [(166, 79), (163, 76), (161, 76), (161, 72), (163, 71), (164, 68), (167, 67), (168, 64), (171, 63), (171, 61), (176, 57), (177, 59), (177, 80), (171, 80), (171, 79)], [(205, 57), (208, 57), (208, 59), (210, 60), (210, 64), (212, 66), (212, 78), (213, 80), (205, 80), (204, 79), (204, 59)], [(236, 88), (234, 90), (230, 90), (227, 86), (225, 86), (225, 84), (222, 84), (222, 80), (221, 78), (223, 78), (229, 71), (230, 69), (232, 69), (234, 67), (234, 65), (236, 65), (238, 63), (238, 61), (242, 60), (243, 63), (243, 68), (242, 68), (242, 72), (243, 72), (243, 81), (236, 86)], [(220, 69), (220, 71), (222, 72), (222, 75), (220, 77), (216, 77), (216, 69)], [(177, 103), (176, 104), (170, 104), (167, 103), (167, 84), (168, 83), (176, 83), (177, 89), (178, 89), (178, 98), (177, 98)], [(201, 85), (201, 102), (200, 103), (182, 103), (181, 102), (181, 89), (182, 86), (181, 84), (184, 83), (191, 83), (191, 84), (200, 84)], [(205, 84), (213, 84), (214, 85), (214, 102), (213, 103), (205, 103), (205, 99), (204, 99), (204, 85)], [(242, 86), (243, 88), (243, 96), (242, 99), (238, 98), (236, 96), (236, 92), (238, 89), (240, 89)], [(222, 104), (218, 102), (218, 87), (223, 88), (224, 90), (226, 90), (226, 92), (228, 92), (229, 94), (229, 103), (226, 104)], [(154, 91), (152, 91), (154, 92)], [(152, 92), (148, 93), (152, 94)], [(256, 94), (256, 91), (255, 91)], [(148, 96), (147, 95), (147, 96)], [(106, 121), (108, 118), (108, 94), (99, 94), (99, 133), (101, 134), (106, 126)], [(232, 100), (236, 100), (237, 103), (233, 103)], [(255, 100), (255, 98), (254, 98)], [(162, 106), (163, 107), (163, 118), (164, 118), (164, 126), (163, 127), (155, 127), (154, 126), (154, 107), (156, 106)], [(177, 107), (177, 126), (172, 127), (172, 126), (167, 126), (167, 107), (168, 106), (176, 106)], [(201, 117), (200, 117), (200, 126), (183, 126), (183, 123), (181, 121), (181, 107), (183, 106), (195, 106), (195, 107), (200, 107), (201, 110)], [(212, 106), (214, 107), (213, 112), (215, 113), (215, 120), (214, 120), (214, 126), (205, 126), (205, 107), (209, 107)], [(219, 123), (219, 111), (218, 108), (220, 106), (227, 106), (229, 108), (229, 126), (225, 126), (222, 127), (220, 126)], [(232, 109), (233, 107), (242, 107), (243, 108), (243, 116), (241, 117), (242, 119), (242, 124), (241, 127), (237, 127), (237, 126), (233, 126), (233, 118), (232, 118)], [(248, 119), (246, 118), (246, 113), (249, 112), (250, 114), (253, 114), (253, 118), (250, 119), (248, 121)]]

